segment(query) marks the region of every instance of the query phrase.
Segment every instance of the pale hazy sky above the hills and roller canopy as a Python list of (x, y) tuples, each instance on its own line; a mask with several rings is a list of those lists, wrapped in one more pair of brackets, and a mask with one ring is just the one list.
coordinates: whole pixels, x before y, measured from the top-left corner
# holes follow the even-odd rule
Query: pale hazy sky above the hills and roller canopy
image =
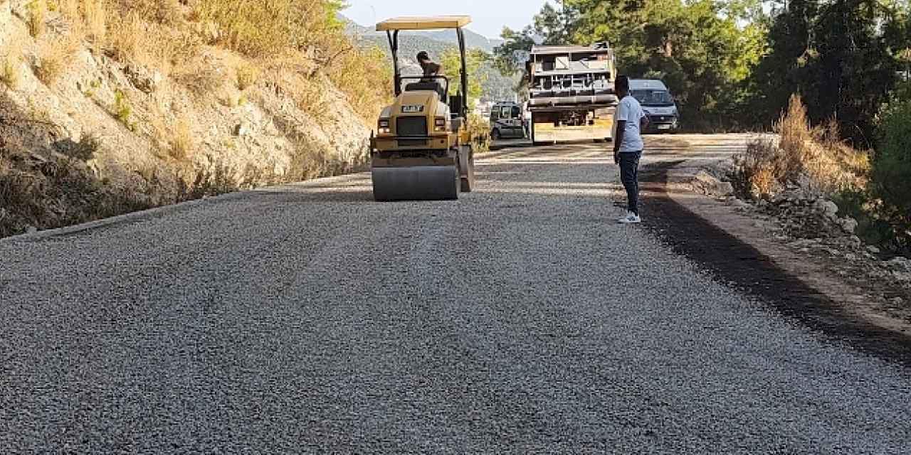
[(348, 0), (342, 12), (360, 25), (371, 26), (396, 15), (471, 15), (471, 30), (498, 38), (504, 25), (522, 28), (545, 0)]

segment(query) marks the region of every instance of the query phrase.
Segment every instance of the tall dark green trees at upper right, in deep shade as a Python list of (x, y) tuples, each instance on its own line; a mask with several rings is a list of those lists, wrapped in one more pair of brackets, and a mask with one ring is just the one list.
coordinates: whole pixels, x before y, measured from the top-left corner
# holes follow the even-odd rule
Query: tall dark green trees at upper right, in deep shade
[(773, 15), (771, 53), (752, 76), (752, 121), (770, 122), (799, 93), (814, 124), (834, 118), (846, 138), (870, 147), (901, 67), (896, 51), (907, 46), (905, 16), (875, 0), (788, 3)]

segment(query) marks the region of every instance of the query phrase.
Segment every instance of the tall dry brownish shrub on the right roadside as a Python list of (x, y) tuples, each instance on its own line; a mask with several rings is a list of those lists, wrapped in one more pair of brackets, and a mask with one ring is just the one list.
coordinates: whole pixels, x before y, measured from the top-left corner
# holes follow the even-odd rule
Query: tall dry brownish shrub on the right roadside
[(824, 194), (865, 187), (869, 153), (845, 144), (834, 122), (811, 126), (800, 96), (791, 97), (776, 131), (777, 144), (752, 141), (736, 157), (734, 180), (742, 193), (771, 197), (789, 185)]

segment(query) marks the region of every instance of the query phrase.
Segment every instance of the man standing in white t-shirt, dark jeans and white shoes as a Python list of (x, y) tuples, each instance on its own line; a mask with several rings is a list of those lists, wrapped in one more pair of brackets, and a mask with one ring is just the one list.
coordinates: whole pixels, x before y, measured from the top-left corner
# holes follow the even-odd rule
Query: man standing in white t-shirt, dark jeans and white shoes
[(620, 166), (620, 180), (627, 190), (627, 214), (617, 221), (623, 224), (641, 223), (639, 216), (639, 160), (642, 157), (641, 131), (649, 125), (636, 98), (630, 96), (630, 78), (617, 76), (614, 90), (620, 100), (614, 115), (617, 134), (614, 137), (614, 163)]

